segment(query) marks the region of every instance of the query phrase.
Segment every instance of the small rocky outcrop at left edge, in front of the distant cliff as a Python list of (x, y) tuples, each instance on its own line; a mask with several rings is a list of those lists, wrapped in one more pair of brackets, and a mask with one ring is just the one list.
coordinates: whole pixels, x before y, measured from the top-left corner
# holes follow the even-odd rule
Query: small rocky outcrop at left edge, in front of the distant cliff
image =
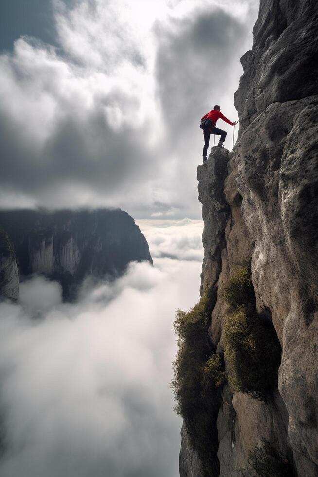
[(19, 275), (16, 256), (5, 232), (0, 230), (0, 300), (17, 301)]

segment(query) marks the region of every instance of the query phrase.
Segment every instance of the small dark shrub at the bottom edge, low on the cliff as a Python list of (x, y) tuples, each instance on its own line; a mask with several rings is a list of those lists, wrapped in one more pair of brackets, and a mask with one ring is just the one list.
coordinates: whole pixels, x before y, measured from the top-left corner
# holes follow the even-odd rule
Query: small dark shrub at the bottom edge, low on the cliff
[(250, 469), (243, 477), (295, 477), (291, 462), (284, 458), (268, 440), (262, 439), (260, 447), (256, 446), (250, 453), (248, 465)]

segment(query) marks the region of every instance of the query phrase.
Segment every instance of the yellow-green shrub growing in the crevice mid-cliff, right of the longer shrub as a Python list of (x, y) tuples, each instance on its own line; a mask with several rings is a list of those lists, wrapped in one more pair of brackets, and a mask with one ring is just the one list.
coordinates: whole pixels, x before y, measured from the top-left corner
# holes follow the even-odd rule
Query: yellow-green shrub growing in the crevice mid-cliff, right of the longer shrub
[(228, 305), (224, 356), (230, 364), (230, 386), (233, 391), (267, 400), (277, 384), (281, 347), (272, 323), (257, 315), (247, 268), (230, 278), (224, 297)]

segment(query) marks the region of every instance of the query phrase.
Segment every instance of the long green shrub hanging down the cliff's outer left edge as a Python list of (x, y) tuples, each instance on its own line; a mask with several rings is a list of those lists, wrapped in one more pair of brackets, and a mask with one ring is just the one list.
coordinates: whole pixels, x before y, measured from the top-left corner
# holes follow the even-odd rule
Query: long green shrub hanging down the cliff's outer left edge
[(171, 383), (175, 410), (186, 423), (207, 476), (219, 472), (216, 419), (219, 389), (225, 379), (223, 361), (214, 353), (208, 336), (214, 303), (215, 292), (208, 290), (189, 312), (177, 311), (174, 328), (179, 350)]

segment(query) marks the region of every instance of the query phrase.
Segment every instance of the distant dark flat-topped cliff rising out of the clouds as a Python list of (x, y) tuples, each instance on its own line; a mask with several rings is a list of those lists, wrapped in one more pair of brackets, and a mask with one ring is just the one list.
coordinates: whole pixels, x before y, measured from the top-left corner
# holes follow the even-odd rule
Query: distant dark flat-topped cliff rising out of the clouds
[(152, 263), (145, 237), (122, 210), (0, 212), (21, 275), (59, 280), (66, 298), (85, 276), (115, 277), (130, 261)]

